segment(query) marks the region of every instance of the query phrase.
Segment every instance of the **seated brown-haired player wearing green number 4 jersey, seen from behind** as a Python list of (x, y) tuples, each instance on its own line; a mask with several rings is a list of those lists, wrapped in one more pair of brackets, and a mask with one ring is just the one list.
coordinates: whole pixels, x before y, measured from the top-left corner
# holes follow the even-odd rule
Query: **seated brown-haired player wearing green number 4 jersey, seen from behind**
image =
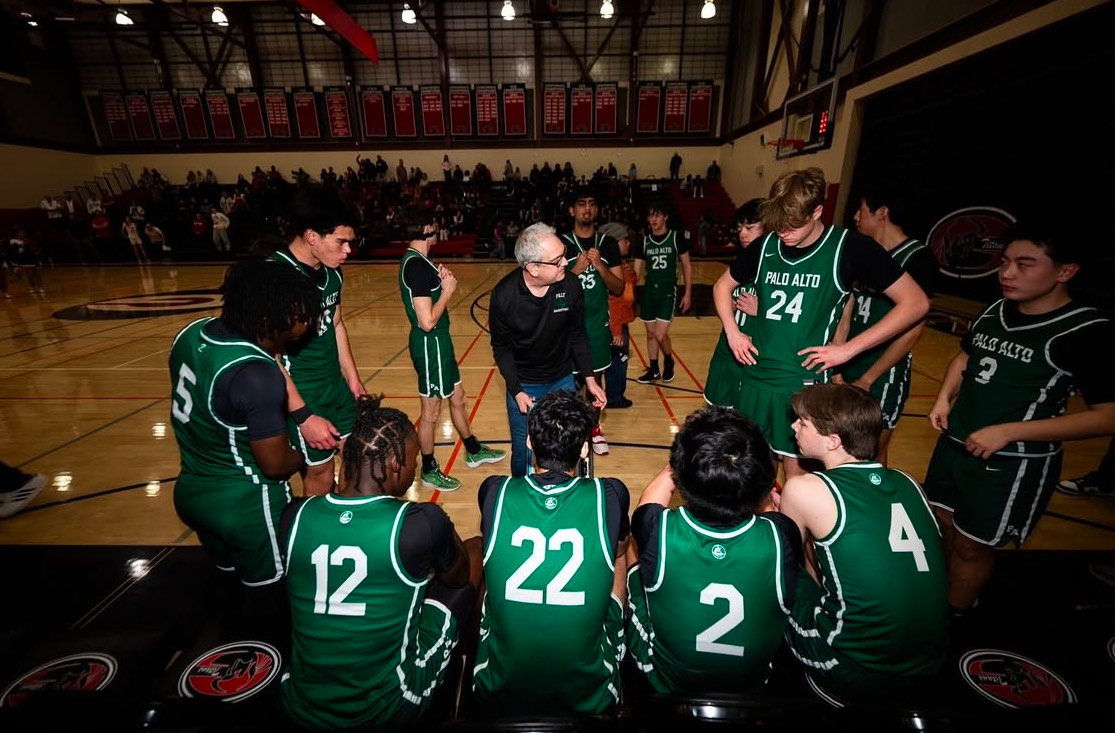
[(820, 566), (797, 577), (786, 640), (806, 676), (845, 702), (917, 693), (948, 646), (933, 512), (913, 479), (874, 460), (883, 423), (869, 393), (814, 385), (793, 406), (801, 454), (824, 471), (794, 476), (782, 492), (783, 513)]

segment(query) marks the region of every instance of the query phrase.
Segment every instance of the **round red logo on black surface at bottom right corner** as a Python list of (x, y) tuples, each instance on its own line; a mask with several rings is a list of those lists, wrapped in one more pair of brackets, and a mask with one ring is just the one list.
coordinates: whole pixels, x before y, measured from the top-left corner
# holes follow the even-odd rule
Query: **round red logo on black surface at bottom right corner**
[(960, 676), (1002, 707), (1075, 703), (1076, 693), (1048, 667), (1002, 649), (972, 649), (960, 657)]

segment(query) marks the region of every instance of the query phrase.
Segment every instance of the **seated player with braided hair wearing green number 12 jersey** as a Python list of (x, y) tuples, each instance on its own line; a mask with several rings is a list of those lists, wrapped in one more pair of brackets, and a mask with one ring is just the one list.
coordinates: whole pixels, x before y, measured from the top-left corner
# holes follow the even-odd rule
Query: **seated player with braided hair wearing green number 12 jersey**
[(282, 703), (310, 730), (420, 716), (481, 582), (479, 538), (462, 542), (437, 504), (400, 499), (415, 480), (418, 436), (380, 399), (357, 399), (340, 491), (295, 500), (283, 514), (293, 644)]

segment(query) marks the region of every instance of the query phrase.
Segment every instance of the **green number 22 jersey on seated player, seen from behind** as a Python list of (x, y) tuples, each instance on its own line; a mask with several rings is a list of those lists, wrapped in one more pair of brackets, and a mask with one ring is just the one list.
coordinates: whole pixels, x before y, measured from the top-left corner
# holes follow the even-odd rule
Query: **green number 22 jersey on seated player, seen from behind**
[(474, 687), (503, 714), (600, 713), (619, 701), (605, 629), (614, 573), (604, 488), (508, 478), (484, 538), (487, 591)]

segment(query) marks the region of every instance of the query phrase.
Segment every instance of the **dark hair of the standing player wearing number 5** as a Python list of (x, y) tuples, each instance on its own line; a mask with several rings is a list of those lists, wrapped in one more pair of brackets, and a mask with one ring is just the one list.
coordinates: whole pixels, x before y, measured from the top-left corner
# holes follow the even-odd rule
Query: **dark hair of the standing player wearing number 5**
[(284, 262), (245, 260), (229, 268), (221, 286), (221, 320), (259, 344), (321, 317), (321, 291)]

